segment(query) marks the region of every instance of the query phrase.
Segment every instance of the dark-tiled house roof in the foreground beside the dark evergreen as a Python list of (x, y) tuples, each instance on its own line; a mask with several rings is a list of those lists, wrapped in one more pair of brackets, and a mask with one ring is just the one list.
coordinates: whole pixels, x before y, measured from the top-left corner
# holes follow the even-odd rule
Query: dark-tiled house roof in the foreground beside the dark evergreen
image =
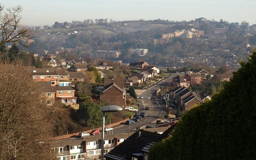
[(148, 160), (149, 149), (152, 145), (168, 138), (174, 129), (174, 126), (168, 128), (162, 134), (138, 130), (132, 136), (124, 140), (105, 154), (106, 160)]

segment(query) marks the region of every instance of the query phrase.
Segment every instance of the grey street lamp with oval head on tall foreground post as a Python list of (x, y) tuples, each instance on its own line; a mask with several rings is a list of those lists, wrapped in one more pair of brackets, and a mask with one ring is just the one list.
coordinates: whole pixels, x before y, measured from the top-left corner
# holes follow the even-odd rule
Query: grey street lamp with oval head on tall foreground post
[(101, 160), (103, 160), (104, 156), (104, 128), (105, 128), (105, 113), (106, 112), (120, 112), (123, 110), (122, 107), (116, 106), (116, 105), (109, 105), (109, 106), (104, 106), (100, 108), (102, 111), (102, 134), (101, 134)]

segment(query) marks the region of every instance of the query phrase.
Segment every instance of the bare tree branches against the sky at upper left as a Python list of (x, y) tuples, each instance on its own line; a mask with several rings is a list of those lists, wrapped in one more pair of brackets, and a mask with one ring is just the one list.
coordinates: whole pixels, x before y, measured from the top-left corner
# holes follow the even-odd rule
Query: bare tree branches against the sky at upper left
[(24, 47), (32, 45), (35, 32), (29, 26), (21, 24), (21, 12), (21, 6), (4, 10), (4, 6), (0, 4), (0, 46), (8, 42), (19, 42)]

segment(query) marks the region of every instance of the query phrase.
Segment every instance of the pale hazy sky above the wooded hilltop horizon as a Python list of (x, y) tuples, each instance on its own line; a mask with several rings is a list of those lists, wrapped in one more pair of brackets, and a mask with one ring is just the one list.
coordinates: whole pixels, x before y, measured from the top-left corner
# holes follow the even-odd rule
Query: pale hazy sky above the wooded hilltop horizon
[(22, 23), (51, 26), (55, 22), (108, 20), (247, 21), (256, 24), (256, 0), (1, 0), (6, 8), (20, 5)]

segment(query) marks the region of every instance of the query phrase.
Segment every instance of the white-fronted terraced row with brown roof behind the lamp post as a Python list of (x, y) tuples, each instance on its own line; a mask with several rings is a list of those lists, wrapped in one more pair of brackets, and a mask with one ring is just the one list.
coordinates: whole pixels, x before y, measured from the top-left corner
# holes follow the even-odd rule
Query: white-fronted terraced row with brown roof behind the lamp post
[[(105, 134), (104, 154), (124, 142), (131, 133)], [(101, 134), (78, 139), (58, 140), (52, 142), (52, 150), (57, 160), (99, 160), (101, 156)]]

